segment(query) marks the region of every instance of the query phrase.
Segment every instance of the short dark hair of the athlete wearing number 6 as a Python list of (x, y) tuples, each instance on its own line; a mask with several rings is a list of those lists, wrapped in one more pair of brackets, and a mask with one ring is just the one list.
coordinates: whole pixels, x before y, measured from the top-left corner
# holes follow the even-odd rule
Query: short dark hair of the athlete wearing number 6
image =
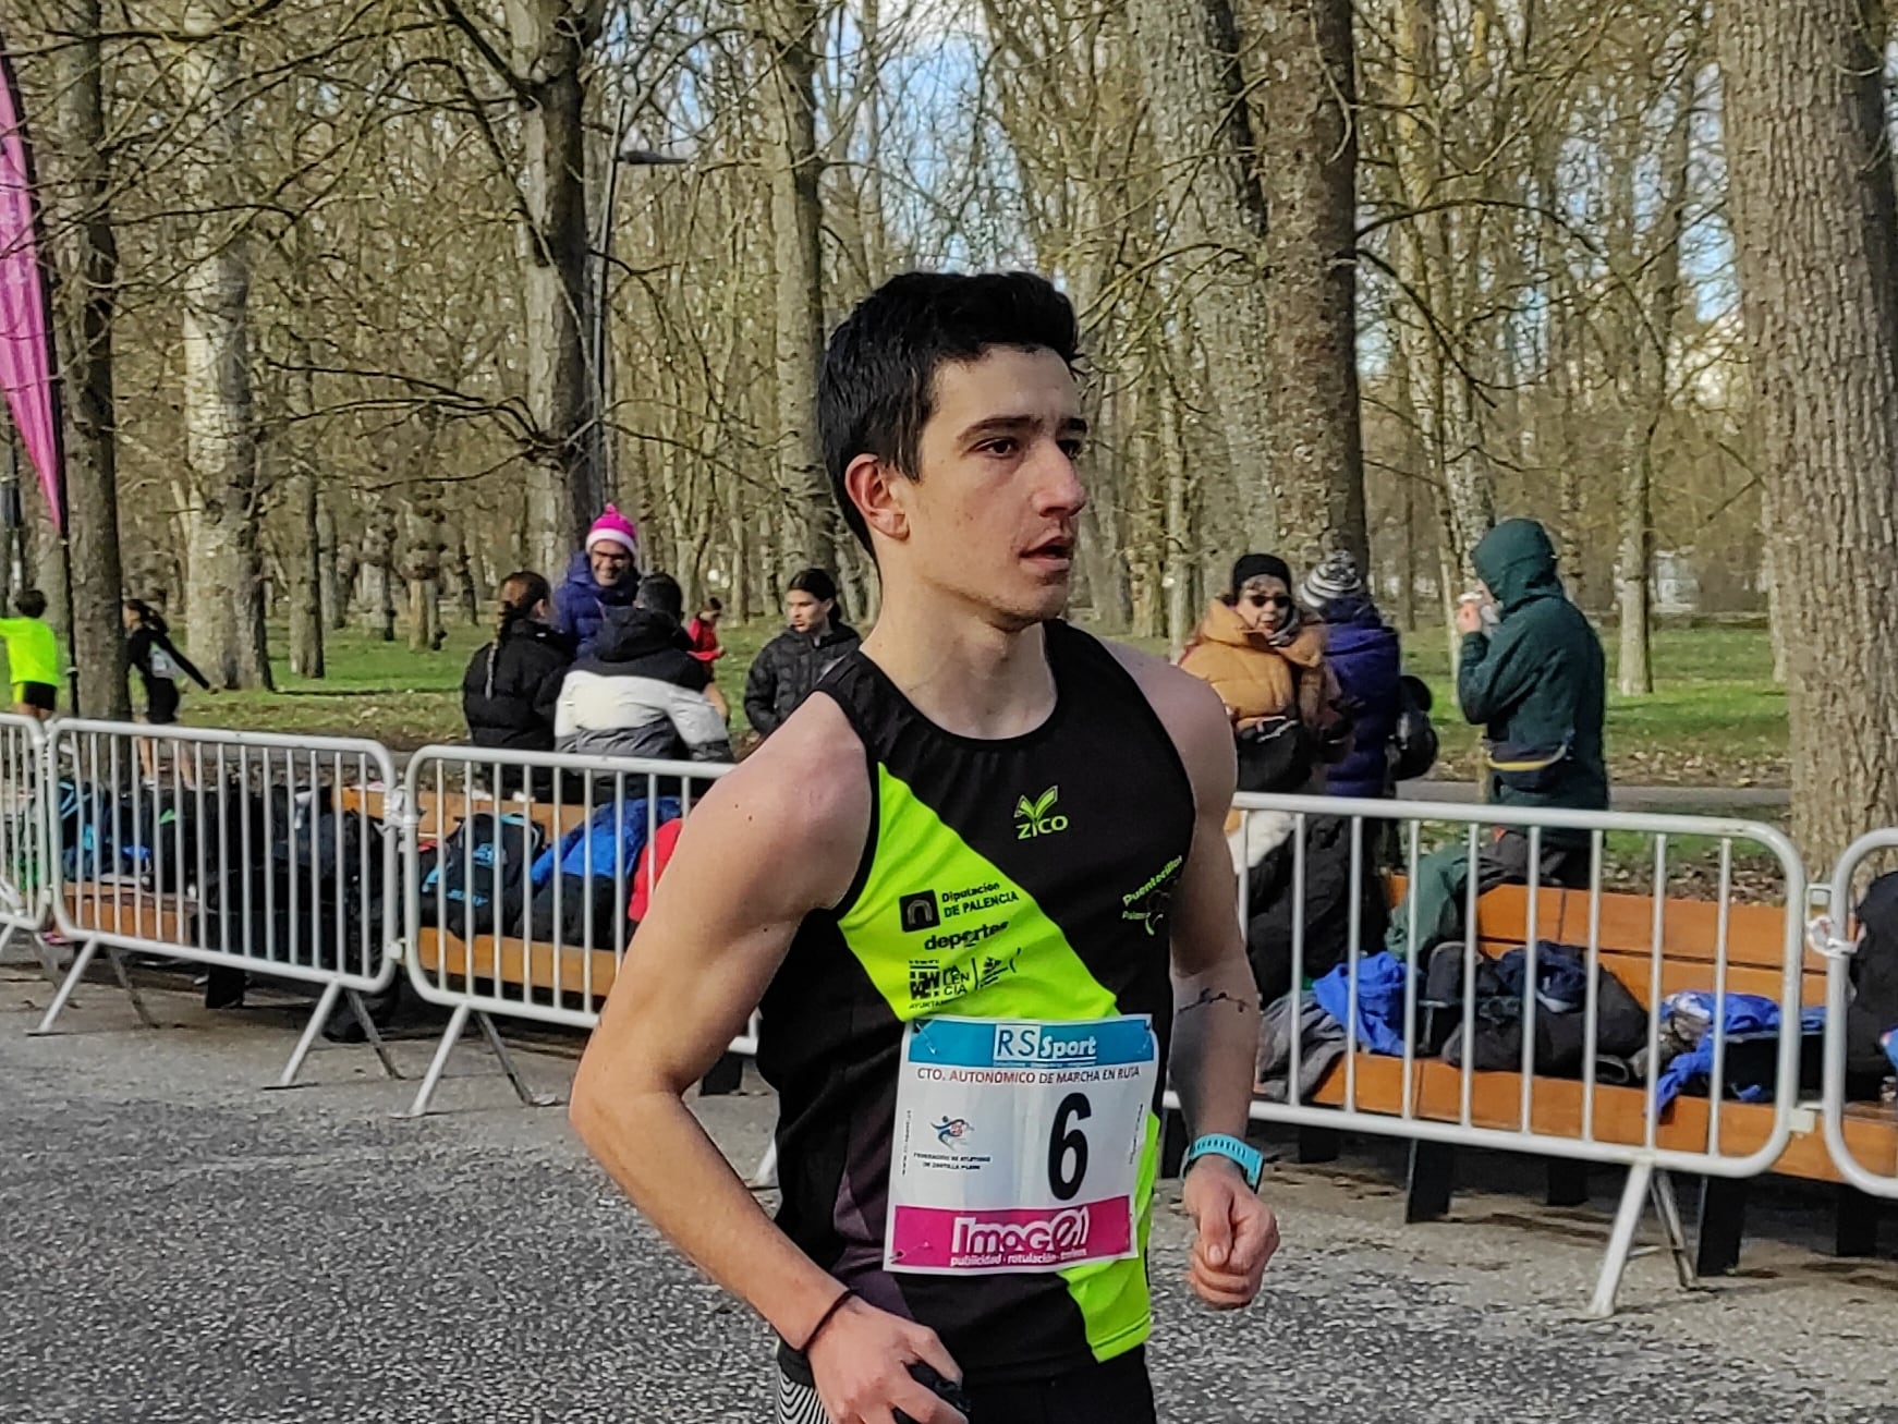
[(858, 456), (919, 478), (917, 444), (936, 404), (936, 370), (977, 361), (995, 346), (1080, 355), (1074, 308), (1046, 277), (909, 272), (864, 298), (831, 336), (818, 382), (818, 437), (843, 522), (869, 549), (864, 513), (843, 488)]

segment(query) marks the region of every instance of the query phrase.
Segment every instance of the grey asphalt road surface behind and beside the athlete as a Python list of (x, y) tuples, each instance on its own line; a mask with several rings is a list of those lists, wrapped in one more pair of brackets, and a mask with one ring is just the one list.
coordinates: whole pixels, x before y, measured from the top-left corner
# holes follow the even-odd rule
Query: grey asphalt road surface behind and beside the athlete
[[(47, 993), (0, 968), (0, 1420), (769, 1418), (765, 1331), (617, 1198), (562, 1113), (457, 1077), (440, 1116), (395, 1120), (410, 1086), (342, 1048), (315, 1056), (319, 1086), (262, 1092), (294, 1018), (207, 1016), (182, 993), (154, 995), (173, 1027), (144, 1033), (116, 989), (87, 985), (63, 1035), (27, 1039)], [(427, 1046), (399, 1044), (410, 1071)], [(571, 1054), (526, 1067), (558, 1088)], [(486, 1069), (471, 1040), (452, 1071)], [(748, 1166), (772, 1103), (748, 1092), (700, 1113)], [(1167, 1198), (1165, 1418), (1898, 1418), (1898, 1265), (1818, 1255), (1822, 1198), (1758, 1211), (1748, 1274), (1706, 1291), (1638, 1259), (1625, 1312), (1598, 1323), (1581, 1306), (1613, 1181), (1589, 1209), (1484, 1192), (1452, 1223), (1405, 1228), (1393, 1160), (1272, 1171), (1285, 1249), (1241, 1316), (1179, 1287), (1186, 1230)]]

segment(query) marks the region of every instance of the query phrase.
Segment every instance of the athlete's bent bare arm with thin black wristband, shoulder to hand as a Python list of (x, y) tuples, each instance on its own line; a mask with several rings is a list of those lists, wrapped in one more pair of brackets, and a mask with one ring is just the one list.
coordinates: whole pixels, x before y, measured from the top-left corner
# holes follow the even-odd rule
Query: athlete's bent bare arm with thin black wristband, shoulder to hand
[[(626, 1196), (795, 1346), (843, 1287), (771, 1223), (685, 1107), (757, 1008), (799, 921), (837, 904), (869, 834), (864, 748), (814, 697), (685, 818), (573, 1080), (569, 1115)], [(909, 1377), (960, 1371), (934, 1333), (850, 1301), (810, 1350), (835, 1424), (960, 1415)], [(881, 1413), (879, 1413), (881, 1411)]]

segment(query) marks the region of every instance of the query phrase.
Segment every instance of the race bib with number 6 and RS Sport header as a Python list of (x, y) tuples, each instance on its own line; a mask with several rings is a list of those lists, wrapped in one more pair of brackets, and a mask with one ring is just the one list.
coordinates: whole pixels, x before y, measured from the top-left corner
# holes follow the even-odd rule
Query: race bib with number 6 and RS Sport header
[(983, 1276), (1139, 1255), (1152, 1020), (919, 1020), (898, 1071), (886, 1270)]

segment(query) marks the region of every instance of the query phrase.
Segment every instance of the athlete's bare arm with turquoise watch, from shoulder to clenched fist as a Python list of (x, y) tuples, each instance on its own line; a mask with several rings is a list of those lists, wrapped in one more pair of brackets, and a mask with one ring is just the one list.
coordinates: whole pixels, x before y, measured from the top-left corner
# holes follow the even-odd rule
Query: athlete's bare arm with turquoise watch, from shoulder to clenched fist
[[(1116, 649), (1120, 651), (1120, 649)], [(1194, 792), (1194, 837), (1173, 892), (1173, 1054), (1169, 1075), (1186, 1130), (1245, 1135), (1258, 1054), (1258, 989), (1239, 934), (1226, 813), (1237, 780), (1226, 710), (1203, 682), (1158, 659), (1126, 655), (1173, 737)], [(1211, 1306), (1251, 1304), (1279, 1227), (1222, 1156), (1186, 1171), (1182, 1204), (1198, 1225), (1190, 1282)]]

